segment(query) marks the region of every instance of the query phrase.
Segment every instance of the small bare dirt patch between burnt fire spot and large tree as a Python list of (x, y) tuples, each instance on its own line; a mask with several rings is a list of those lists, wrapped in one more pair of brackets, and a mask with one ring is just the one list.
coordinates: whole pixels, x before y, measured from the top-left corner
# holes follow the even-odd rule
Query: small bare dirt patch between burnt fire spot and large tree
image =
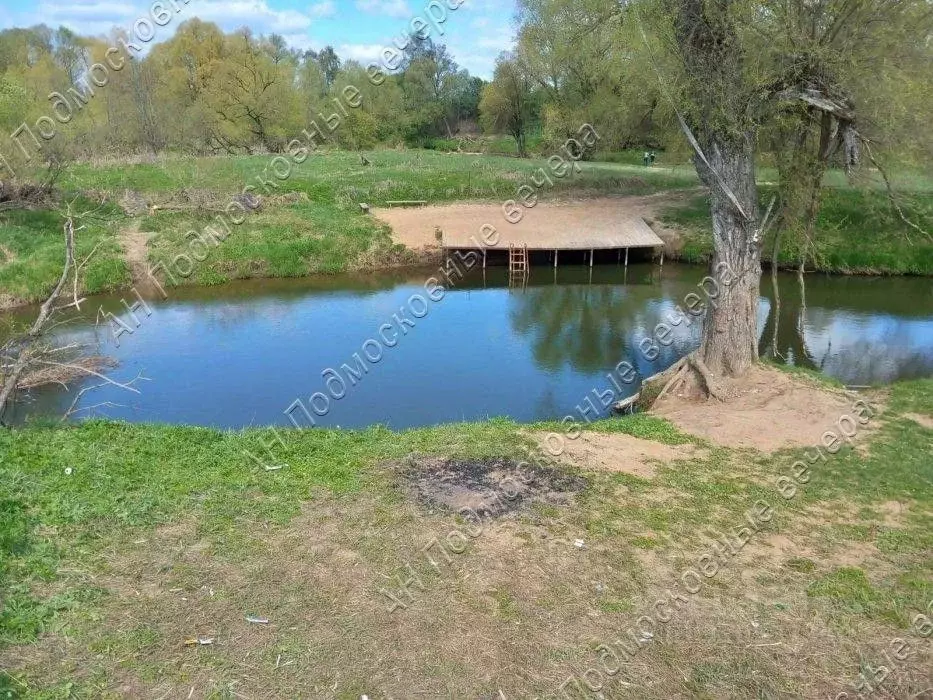
[[(542, 448), (544, 436), (539, 436)], [(662, 445), (621, 433), (583, 433), (576, 440), (564, 441), (562, 458), (585, 469), (622, 472), (645, 479), (654, 477), (659, 464), (678, 459), (702, 457), (705, 450), (695, 445)]]

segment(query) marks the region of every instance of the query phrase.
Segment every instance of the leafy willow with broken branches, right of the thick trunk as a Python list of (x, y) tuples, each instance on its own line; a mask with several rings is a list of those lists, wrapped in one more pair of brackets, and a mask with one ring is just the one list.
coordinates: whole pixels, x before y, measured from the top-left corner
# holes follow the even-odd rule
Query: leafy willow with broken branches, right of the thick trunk
[(762, 0), (756, 24), (766, 37), (759, 53), (773, 73), (767, 90), (775, 114), (766, 144), (778, 166), (781, 201), (773, 258), (783, 233), (801, 250), (802, 267), (815, 254), (830, 167), (855, 174), (864, 159), (885, 172), (882, 161), (895, 158), (929, 165), (933, 138), (924, 121), (933, 109), (933, 7), (927, 0)]

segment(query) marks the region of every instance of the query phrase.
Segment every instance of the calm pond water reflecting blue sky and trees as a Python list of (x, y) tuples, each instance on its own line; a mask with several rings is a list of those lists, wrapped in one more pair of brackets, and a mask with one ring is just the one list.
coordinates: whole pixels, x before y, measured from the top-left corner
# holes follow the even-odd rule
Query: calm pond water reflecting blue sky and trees
[[(639, 344), (676, 316), (675, 307), (698, 291), (704, 274), (692, 266), (667, 265), (661, 272), (633, 265), (626, 274), (598, 265), (592, 272), (561, 267), (555, 281), (552, 269), (538, 267), (526, 288), (510, 289), (503, 270), (485, 277), (478, 271), (429, 303), (423, 318), (406, 312), (414, 327), (406, 326), (397, 345), (315, 420), (406, 428), (492, 416), (559, 418), (593, 389), (605, 390), (606, 373), (621, 360), (647, 377), (695, 348), (697, 323), (676, 327), (672, 344), (653, 360)], [(138, 328), (119, 296), (91, 299), (63, 327), (63, 338), (117, 359), (113, 378), (141, 374), (149, 381), (138, 385), (138, 395), (112, 387), (87, 392), (80, 405), (94, 408), (81, 415), (219, 428), (289, 425), (286, 409), (326, 393), (322, 371), (354, 365), (353, 354), (379, 338), (383, 324), (397, 328), (393, 314), (413, 294), (425, 295), (430, 275), (408, 270), (172, 290), (169, 299), (149, 302), (151, 316), (137, 312)], [(929, 279), (809, 275), (802, 292), (795, 276), (782, 275), (778, 292), (780, 304), (766, 274), (763, 353), (848, 384), (933, 374)], [(110, 325), (95, 325), (101, 308), (134, 332), (115, 341)], [(417, 303), (414, 309), (423, 311)], [(376, 346), (369, 350), (375, 354)], [(624, 388), (632, 393), (638, 383)], [(57, 387), (36, 390), (21, 397), (15, 417), (60, 414), (73, 398)]]

